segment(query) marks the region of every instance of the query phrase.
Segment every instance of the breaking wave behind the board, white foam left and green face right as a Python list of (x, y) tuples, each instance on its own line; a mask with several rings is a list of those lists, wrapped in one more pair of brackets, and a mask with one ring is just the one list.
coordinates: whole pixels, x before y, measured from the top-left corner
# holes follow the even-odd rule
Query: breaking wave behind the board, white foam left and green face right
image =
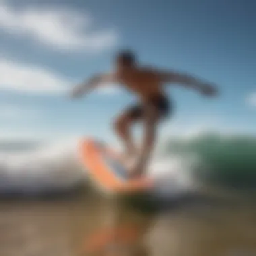
[[(0, 143), (1, 144), (1, 143)], [(2, 143), (0, 193), (42, 194), (86, 184), (79, 161), (79, 139), (55, 143)], [(198, 135), (166, 139), (150, 161), (147, 175), (156, 193), (197, 187), (199, 183), (234, 189), (256, 188), (256, 138)]]

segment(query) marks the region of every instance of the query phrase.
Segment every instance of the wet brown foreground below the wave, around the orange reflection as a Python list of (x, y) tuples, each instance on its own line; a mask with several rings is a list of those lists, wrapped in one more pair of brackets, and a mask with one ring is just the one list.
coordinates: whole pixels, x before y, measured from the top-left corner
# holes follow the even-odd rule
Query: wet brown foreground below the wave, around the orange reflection
[(85, 245), (98, 230), (123, 224), (139, 230), (129, 245), (133, 250), (123, 255), (256, 255), (256, 207), (249, 203), (181, 205), (149, 216), (96, 195), (1, 202), (0, 255), (121, 256), (104, 249), (88, 252)]

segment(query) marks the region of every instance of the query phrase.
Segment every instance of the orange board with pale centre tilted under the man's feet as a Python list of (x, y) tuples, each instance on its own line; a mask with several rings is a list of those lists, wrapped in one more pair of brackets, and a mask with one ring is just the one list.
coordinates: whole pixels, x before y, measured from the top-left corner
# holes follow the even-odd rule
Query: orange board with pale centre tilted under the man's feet
[(94, 139), (82, 139), (79, 146), (82, 164), (96, 186), (112, 193), (138, 193), (151, 189), (152, 179), (129, 179), (127, 170), (114, 150)]

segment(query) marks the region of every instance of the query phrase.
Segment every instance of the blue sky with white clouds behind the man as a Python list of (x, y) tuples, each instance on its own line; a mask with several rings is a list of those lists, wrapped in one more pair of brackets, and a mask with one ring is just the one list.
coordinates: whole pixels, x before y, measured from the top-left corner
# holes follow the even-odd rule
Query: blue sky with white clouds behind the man
[(134, 101), (115, 88), (69, 100), (77, 82), (112, 68), (122, 48), (141, 64), (218, 84), (218, 98), (166, 86), (174, 117), (162, 135), (204, 129), (255, 133), (253, 1), (0, 0), (1, 138), (113, 138), (111, 120)]

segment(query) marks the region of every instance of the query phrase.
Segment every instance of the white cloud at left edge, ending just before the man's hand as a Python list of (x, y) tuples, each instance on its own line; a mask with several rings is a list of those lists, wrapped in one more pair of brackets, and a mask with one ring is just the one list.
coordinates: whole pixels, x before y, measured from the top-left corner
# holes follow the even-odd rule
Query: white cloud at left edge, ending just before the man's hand
[(64, 77), (41, 69), (0, 59), (0, 90), (15, 90), (40, 94), (62, 92), (69, 82)]

